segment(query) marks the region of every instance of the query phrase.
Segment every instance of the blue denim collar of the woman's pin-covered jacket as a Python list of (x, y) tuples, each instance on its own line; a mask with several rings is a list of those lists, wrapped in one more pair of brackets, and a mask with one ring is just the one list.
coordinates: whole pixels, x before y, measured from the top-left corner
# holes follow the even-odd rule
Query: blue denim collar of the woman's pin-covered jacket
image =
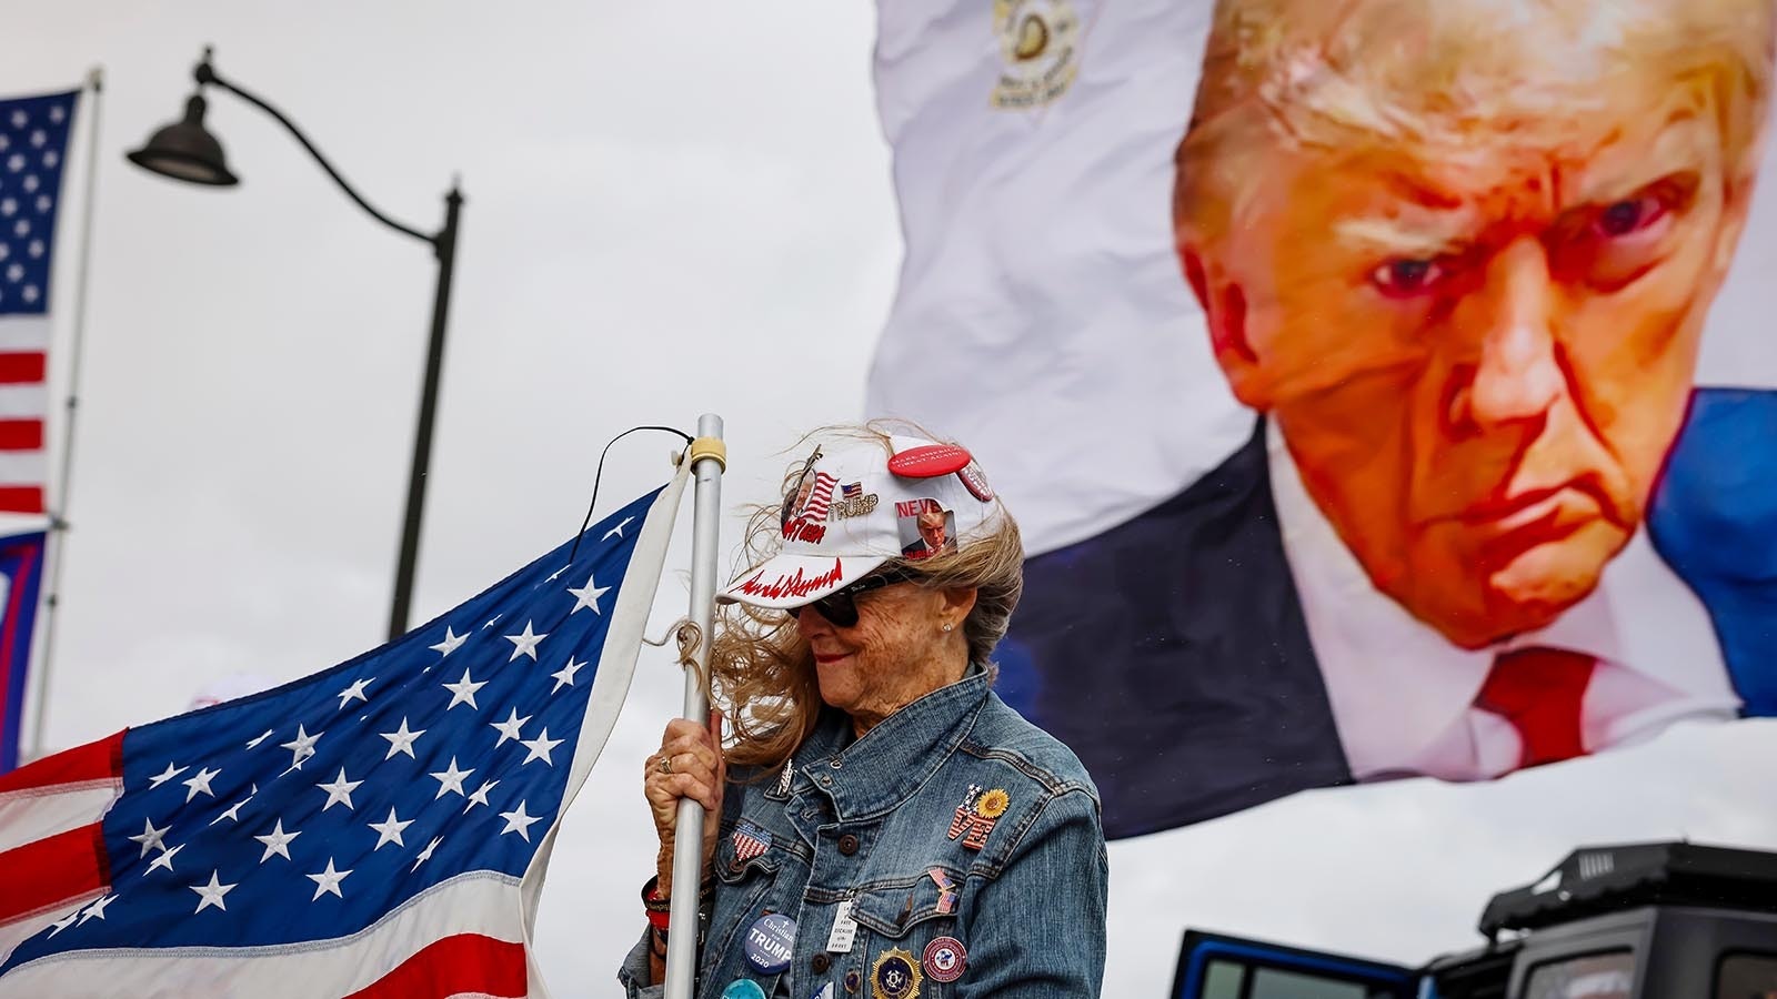
[(796, 793), (812, 784), (833, 800), (841, 821), (892, 811), (956, 752), (992, 683), (988, 670), (970, 665), (963, 679), (901, 707), (855, 741), (849, 715), (821, 711), (821, 722), (796, 750)]

